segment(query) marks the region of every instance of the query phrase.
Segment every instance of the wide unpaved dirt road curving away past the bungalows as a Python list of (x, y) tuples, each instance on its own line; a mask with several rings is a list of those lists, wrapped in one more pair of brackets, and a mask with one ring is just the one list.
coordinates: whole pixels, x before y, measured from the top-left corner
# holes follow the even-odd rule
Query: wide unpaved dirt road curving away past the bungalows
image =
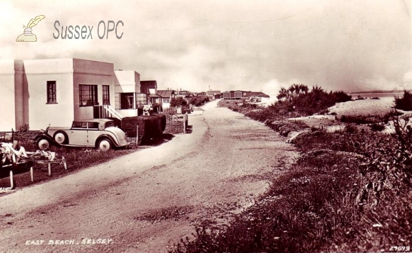
[(190, 115), (190, 134), (0, 197), (0, 252), (165, 252), (227, 221), (296, 153), (216, 104)]

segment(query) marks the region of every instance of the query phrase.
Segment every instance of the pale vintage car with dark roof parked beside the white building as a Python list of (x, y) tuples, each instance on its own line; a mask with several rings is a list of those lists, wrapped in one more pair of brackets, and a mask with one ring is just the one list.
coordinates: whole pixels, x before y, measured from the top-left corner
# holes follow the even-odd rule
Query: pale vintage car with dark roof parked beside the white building
[(128, 145), (126, 134), (115, 127), (111, 119), (82, 119), (73, 121), (71, 128), (48, 127), (35, 138), (39, 149), (49, 149), (50, 145), (72, 147), (97, 147), (106, 151), (113, 147)]

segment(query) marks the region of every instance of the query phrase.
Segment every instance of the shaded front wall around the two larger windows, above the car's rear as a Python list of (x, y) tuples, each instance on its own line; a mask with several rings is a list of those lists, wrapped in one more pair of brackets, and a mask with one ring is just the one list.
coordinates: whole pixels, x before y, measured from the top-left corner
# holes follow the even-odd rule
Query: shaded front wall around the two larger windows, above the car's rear
[(115, 73), (113, 63), (73, 59), (73, 104), (74, 119), (93, 119), (93, 106), (80, 106), (79, 85), (97, 84), (98, 102), (103, 105), (102, 86), (110, 86), (111, 106), (115, 102)]

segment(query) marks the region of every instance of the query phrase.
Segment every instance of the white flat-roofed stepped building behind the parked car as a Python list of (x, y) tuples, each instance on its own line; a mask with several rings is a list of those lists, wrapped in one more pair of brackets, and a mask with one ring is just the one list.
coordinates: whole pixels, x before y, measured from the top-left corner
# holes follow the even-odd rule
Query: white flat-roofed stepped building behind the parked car
[(0, 60), (0, 131), (19, 130), (25, 123), (40, 130), (73, 120), (128, 116), (131, 112), (122, 108), (135, 106), (130, 93), (140, 93), (139, 81), (139, 73), (114, 71), (108, 62)]

